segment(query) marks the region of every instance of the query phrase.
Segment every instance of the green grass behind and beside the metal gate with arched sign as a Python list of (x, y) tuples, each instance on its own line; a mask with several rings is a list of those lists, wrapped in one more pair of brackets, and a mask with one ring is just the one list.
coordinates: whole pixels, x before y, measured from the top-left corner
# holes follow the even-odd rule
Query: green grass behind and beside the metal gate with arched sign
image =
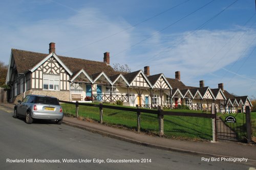
[[(227, 116), (236, 116), (236, 120), (237, 120), (237, 123), (245, 123), (245, 114), (241, 114), (241, 113), (238, 113), (238, 114), (222, 114), (221, 115), (221, 119), (222, 120), (225, 120), (225, 118)], [(230, 124), (227, 124), (229, 127), (230, 127)], [(231, 129), (233, 129), (231, 127)], [(252, 129), (252, 136), (256, 137), (256, 112), (251, 112), (251, 129)], [(236, 129), (233, 129), (235, 132), (238, 132)], [(239, 134), (240, 136), (240, 134)]]

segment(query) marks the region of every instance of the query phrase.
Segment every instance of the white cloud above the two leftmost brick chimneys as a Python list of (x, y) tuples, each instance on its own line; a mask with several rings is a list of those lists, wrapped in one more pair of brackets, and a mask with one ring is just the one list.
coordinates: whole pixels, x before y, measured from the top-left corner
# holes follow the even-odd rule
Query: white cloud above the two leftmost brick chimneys
[[(55, 42), (57, 55), (102, 61), (104, 52), (113, 54), (130, 46), (129, 31), (122, 31), (127, 27), (130, 25), (123, 20), (113, 21), (99, 10), (87, 8), (66, 19), (19, 23), (16, 28), (0, 26), (1, 37), (5, 40), (0, 42), (0, 50), (7, 63), (11, 48), (48, 53), (48, 44)], [(103, 40), (93, 43), (99, 39)]]

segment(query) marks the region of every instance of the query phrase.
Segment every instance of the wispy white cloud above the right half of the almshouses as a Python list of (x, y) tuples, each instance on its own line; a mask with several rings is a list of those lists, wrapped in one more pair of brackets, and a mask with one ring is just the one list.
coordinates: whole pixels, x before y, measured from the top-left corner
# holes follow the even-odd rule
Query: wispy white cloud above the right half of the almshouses
[[(175, 38), (161, 43), (162, 47), (155, 50), (154, 54), (144, 54), (142, 58), (149, 58), (149, 60), (141, 61), (141, 63), (152, 65), (154, 70), (160, 68), (161, 72), (166, 74), (170, 70), (172, 72), (180, 70), (183, 76), (189, 78), (212, 73), (243, 58), (250, 52), (250, 47), (249, 50), (247, 47), (256, 44), (256, 42), (251, 43), (256, 36), (255, 30), (200, 30), (187, 35), (189, 33), (186, 32), (179, 34), (178, 37), (177, 35), (168, 36)], [(162, 37), (164, 39), (165, 35)], [(186, 38), (181, 41), (181, 37)], [(155, 46), (159, 46), (159, 43)], [(166, 47), (169, 49), (166, 50)], [(148, 48), (150, 49), (150, 47)], [(140, 66), (142, 65), (140, 64)]]

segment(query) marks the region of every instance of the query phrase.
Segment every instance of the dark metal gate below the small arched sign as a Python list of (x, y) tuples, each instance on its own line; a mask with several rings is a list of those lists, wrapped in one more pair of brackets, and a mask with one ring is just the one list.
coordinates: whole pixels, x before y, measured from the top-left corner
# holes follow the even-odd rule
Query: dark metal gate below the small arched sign
[(226, 140), (246, 139), (246, 125), (244, 123), (223, 122), (217, 120), (217, 138)]

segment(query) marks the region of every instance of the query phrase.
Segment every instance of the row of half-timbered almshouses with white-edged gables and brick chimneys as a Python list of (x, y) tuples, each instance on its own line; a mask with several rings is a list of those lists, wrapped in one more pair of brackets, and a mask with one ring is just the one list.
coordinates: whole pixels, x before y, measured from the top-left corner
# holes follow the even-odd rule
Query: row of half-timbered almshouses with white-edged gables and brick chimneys
[(208, 110), (215, 103), (218, 112), (243, 111), (251, 106), (248, 96), (235, 97), (223, 89), (185, 86), (180, 72), (175, 79), (163, 74), (150, 75), (144, 71), (117, 72), (110, 66), (109, 53), (103, 62), (57, 56), (55, 44), (50, 43), (49, 54), (12, 49), (7, 75), (11, 87), (11, 102), (22, 100), (27, 94), (56, 96), (65, 101), (122, 101), (126, 106), (144, 108), (177, 108), (186, 105), (194, 110)]

